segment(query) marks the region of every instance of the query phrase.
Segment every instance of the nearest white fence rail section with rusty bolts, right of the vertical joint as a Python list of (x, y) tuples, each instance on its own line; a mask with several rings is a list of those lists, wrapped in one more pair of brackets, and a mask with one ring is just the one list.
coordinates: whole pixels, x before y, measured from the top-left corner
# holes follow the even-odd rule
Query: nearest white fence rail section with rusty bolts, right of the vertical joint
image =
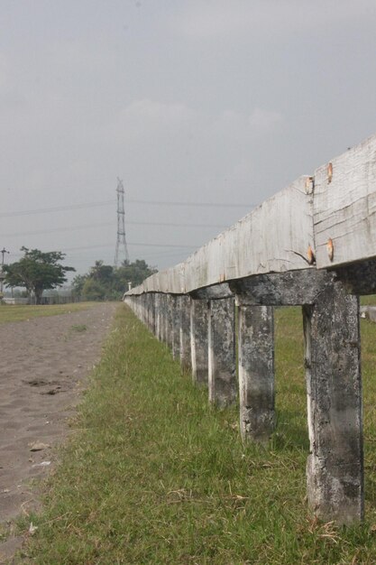
[[(376, 135), (315, 171), (314, 230), (319, 268), (376, 255)], [(327, 253), (327, 242), (333, 254)]]

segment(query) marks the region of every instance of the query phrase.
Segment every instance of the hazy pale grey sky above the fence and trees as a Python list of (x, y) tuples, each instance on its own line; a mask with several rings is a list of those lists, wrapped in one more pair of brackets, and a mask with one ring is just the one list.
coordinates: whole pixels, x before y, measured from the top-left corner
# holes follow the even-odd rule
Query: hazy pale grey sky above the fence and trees
[(376, 133), (375, 61), (375, 0), (0, 0), (0, 247), (113, 264), (119, 176), (179, 263)]

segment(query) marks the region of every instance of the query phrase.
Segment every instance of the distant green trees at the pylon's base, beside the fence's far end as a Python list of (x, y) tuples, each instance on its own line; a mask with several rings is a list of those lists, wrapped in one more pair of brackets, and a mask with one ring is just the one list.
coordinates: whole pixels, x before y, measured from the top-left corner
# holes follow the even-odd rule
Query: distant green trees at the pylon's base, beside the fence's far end
[(143, 259), (136, 259), (133, 263), (124, 261), (120, 267), (96, 261), (87, 274), (78, 274), (73, 279), (72, 288), (75, 296), (82, 300), (120, 300), (128, 290), (129, 282), (137, 286), (156, 272)]

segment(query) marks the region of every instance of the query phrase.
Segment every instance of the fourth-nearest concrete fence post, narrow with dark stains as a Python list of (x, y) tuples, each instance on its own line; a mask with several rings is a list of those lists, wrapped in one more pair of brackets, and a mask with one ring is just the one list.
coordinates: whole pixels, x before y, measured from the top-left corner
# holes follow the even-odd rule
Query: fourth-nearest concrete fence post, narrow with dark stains
[(207, 384), (208, 375), (208, 302), (190, 302), (190, 351), (192, 379), (197, 384)]

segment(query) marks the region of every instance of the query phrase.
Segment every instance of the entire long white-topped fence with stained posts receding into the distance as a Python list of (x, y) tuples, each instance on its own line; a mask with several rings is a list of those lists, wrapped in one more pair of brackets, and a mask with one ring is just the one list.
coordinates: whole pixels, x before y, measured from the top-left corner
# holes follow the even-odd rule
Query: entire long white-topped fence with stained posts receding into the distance
[(376, 135), (300, 177), (124, 301), (197, 383), (207, 383), (211, 403), (239, 396), (243, 440), (261, 443), (275, 423), (273, 308), (301, 305), (308, 504), (326, 521), (354, 523), (363, 517), (358, 296), (374, 292)]

